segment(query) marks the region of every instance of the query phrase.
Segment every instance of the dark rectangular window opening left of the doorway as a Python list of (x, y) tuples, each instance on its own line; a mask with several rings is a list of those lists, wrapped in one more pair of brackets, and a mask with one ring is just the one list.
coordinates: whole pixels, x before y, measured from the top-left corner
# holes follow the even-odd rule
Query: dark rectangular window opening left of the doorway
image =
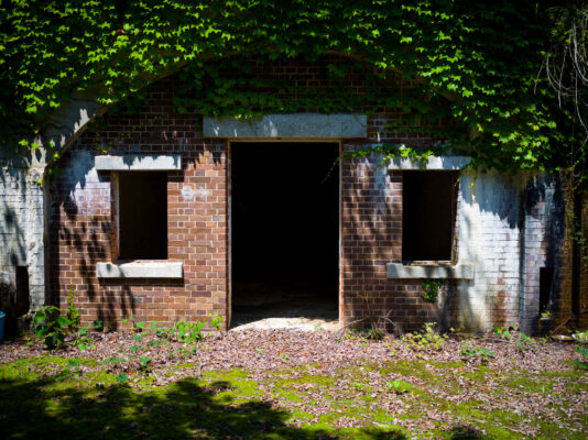
[(120, 260), (167, 258), (167, 175), (119, 174)]

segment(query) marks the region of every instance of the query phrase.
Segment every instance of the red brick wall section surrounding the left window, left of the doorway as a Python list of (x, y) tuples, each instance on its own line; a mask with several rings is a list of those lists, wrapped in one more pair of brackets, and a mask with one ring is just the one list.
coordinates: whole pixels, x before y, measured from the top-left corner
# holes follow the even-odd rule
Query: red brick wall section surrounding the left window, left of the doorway
[[(51, 288), (64, 306), (68, 286), (76, 286), (85, 322), (100, 319), (115, 326), (129, 316), (172, 322), (209, 312), (226, 316), (227, 147), (221, 141), (204, 141), (194, 114), (174, 113), (174, 80), (154, 85), (139, 116), (108, 116), (104, 130), (85, 133), (52, 183)], [(137, 127), (131, 136), (121, 136)], [(110, 175), (97, 176), (90, 169), (98, 154), (94, 146), (119, 139), (115, 153), (182, 155), (182, 170), (167, 173), (167, 257), (184, 263), (182, 280), (96, 277), (96, 263), (112, 261), (116, 231)], [(183, 188), (193, 189), (192, 200), (182, 195)]]

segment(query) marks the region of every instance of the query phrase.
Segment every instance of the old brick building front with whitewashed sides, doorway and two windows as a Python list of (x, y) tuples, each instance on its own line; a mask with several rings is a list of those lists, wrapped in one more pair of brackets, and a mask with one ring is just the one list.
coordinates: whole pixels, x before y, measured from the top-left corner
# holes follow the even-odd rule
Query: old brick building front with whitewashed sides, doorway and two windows
[[(320, 89), (326, 64), (273, 62), (258, 75)], [(360, 76), (346, 81), (361, 95)], [(178, 77), (154, 81), (126, 114), (73, 96), (43, 132), (63, 151), (44, 185), (43, 154), (2, 158), (4, 309), (64, 306), (75, 286), (84, 322), (230, 322), (251, 289), (295, 285), (340, 324), (386, 317), (400, 330), (436, 321), (533, 332), (586, 317), (586, 251), (566, 245), (571, 220), (556, 177), (476, 175), (461, 170), (467, 156), (346, 155), (436, 141), (388, 129), (400, 119), (393, 109), (203, 118), (176, 112), (181, 89)], [(422, 295), (431, 280), (434, 302)]]

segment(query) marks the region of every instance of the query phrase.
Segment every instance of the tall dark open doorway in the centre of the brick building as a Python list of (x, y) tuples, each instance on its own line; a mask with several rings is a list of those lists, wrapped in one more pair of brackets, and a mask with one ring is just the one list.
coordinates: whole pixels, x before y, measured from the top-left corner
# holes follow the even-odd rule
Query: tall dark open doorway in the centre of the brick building
[(232, 327), (338, 319), (339, 145), (231, 144)]

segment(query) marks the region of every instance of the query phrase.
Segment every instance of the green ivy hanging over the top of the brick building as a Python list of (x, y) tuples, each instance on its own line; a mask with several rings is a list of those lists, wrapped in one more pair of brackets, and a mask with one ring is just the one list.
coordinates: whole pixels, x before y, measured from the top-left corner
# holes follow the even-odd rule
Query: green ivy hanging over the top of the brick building
[[(120, 105), (177, 74), (186, 85), (174, 100), (179, 113), (389, 109), (403, 117), (388, 131), (439, 139), (482, 168), (573, 164), (586, 174), (575, 116), (557, 106), (540, 75), (556, 37), (546, 32), (553, 28), (548, 7), (509, 0), (6, 1), (0, 140), (26, 139), (34, 147), (31, 136), (74, 91), (96, 90), (104, 105)], [(274, 61), (329, 56), (353, 63), (329, 63), (331, 87), (320, 94), (255, 75), (255, 66)], [(342, 87), (358, 72), (366, 73), (361, 95)], [(389, 87), (394, 82), (411, 87), (399, 95)], [(447, 121), (449, 129), (439, 130)]]

